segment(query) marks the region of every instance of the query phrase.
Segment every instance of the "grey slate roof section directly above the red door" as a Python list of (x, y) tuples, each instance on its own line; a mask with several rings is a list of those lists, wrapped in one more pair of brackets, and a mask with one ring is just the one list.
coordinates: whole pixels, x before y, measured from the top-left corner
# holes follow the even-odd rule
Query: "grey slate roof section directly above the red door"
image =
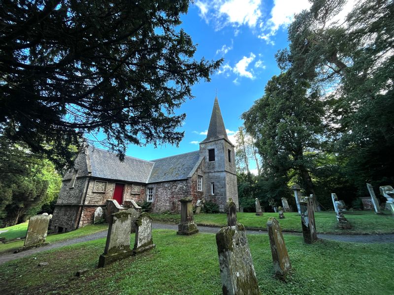
[(155, 164), (130, 156), (121, 162), (115, 153), (95, 147), (89, 147), (88, 154), (93, 177), (146, 183)]

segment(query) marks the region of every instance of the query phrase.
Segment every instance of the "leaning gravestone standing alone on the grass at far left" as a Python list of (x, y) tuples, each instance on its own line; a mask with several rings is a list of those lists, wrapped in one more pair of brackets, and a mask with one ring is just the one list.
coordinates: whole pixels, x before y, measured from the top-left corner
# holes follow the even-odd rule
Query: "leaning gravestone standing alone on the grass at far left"
[(28, 250), (34, 247), (49, 245), (48, 242), (45, 242), (45, 238), (48, 233), (48, 225), (48, 213), (30, 217), (25, 244), (21, 249), (18, 249), (15, 252)]

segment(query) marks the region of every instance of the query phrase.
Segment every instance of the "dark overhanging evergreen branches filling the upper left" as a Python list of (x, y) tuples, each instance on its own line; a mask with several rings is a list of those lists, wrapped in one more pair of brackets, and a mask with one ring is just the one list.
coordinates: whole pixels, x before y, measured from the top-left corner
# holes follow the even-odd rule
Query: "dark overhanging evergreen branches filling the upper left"
[(7, 137), (69, 164), (88, 134), (122, 159), (129, 143), (178, 144), (191, 86), (222, 60), (196, 61), (177, 29), (189, 0), (4, 1), (0, 123)]

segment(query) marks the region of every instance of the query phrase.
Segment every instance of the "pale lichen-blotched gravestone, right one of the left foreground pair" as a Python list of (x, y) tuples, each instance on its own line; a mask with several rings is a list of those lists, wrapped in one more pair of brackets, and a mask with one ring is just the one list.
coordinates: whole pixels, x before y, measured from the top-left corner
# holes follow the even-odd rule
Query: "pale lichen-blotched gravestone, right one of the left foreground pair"
[(133, 254), (135, 255), (155, 248), (156, 245), (152, 240), (152, 218), (149, 214), (146, 212), (141, 213), (135, 221), (135, 226)]

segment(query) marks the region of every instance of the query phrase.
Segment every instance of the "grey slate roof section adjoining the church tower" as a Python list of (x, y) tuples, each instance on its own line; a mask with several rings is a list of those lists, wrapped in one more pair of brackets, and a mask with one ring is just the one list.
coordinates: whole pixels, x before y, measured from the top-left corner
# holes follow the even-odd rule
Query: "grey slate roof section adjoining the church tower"
[(155, 163), (149, 183), (188, 178), (199, 160), (199, 151), (152, 160)]

